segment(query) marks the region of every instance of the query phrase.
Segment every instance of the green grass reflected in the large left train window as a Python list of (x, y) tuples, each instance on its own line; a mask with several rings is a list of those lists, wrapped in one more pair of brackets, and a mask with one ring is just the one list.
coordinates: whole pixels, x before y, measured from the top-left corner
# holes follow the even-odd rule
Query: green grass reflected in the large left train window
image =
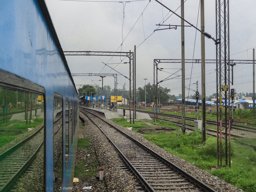
[(34, 122), (26, 124), (25, 121), (7, 121), (7, 123), (0, 122), (0, 147), (9, 143), (18, 137), (19, 134), (28, 132), (28, 128), (37, 127), (44, 119), (33, 119)]

